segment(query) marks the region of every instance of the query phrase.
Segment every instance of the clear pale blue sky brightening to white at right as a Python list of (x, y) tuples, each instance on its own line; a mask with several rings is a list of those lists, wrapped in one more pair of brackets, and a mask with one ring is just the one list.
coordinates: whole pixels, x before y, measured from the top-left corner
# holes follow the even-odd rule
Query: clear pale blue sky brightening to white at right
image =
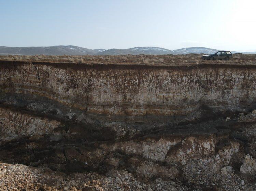
[(256, 51), (256, 0), (0, 0), (0, 46)]

